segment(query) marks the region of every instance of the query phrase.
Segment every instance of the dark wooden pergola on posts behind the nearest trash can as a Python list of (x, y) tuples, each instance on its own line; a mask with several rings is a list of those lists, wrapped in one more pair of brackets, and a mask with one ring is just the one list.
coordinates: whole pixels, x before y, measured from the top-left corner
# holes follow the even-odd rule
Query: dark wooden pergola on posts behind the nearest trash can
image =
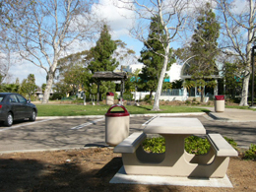
[(120, 90), (120, 100), (121, 103), (123, 101), (123, 92), (124, 92), (124, 82), (127, 80), (127, 74), (125, 72), (110, 72), (110, 71), (101, 71), (96, 72), (93, 75), (93, 78), (96, 79), (96, 85), (97, 85), (97, 96), (96, 96), (96, 102), (99, 103), (99, 86), (100, 81), (120, 81), (121, 82), (121, 90)]

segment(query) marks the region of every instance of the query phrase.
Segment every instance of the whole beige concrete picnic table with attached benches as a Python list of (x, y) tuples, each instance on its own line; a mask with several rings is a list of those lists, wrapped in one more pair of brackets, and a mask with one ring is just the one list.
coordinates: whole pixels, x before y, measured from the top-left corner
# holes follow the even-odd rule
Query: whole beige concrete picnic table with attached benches
[[(165, 139), (165, 153), (152, 154), (143, 150), (147, 134), (160, 134)], [(224, 177), (229, 157), (237, 152), (220, 134), (207, 135), (211, 143), (207, 155), (188, 154), (184, 139), (191, 135), (206, 135), (197, 118), (158, 117), (143, 132), (134, 133), (117, 145), (115, 153), (122, 153), (127, 174), (166, 175), (186, 177)]]

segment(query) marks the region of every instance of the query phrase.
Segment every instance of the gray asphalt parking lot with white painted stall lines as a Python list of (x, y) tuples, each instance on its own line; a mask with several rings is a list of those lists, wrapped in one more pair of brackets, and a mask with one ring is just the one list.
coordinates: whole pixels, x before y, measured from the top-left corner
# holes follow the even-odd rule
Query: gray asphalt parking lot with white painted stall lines
[[(183, 116), (184, 117), (184, 116)], [(224, 122), (207, 115), (198, 118), (207, 132), (219, 132), (233, 138), (239, 147), (256, 144), (255, 122)], [(130, 134), (141, 131), (152, 116), (131, 117)], [(174, 118), (174, 117), (173, 117)], [(38, 119), (15, 122), (12, 127), (0, 126), (0, 153), (40, 151), (84, 147), (102, 147), (105, 142), (104, 117)]]

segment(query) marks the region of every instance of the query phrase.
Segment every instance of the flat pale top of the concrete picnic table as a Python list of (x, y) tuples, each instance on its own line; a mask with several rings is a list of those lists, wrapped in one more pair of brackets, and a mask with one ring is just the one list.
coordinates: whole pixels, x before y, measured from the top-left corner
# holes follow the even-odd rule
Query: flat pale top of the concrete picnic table
[(197, 118), (158, 117), (144, 129), (149, 134), (206, 134), (206, 129)]

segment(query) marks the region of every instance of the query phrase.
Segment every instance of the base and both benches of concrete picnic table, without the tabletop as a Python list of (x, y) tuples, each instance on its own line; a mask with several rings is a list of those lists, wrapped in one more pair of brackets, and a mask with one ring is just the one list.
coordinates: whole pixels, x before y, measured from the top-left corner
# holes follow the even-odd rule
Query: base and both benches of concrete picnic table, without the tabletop
[[(163, 154), (153, 154), (144, 151), (142, 143), (147, 138), (146, 133), (136, 132), (124, 139), (114, 148), (114, 153), (122, 154), (125, 172), (127, 174), (213, 177), (222, 178), (228, 167), (229, 157), (237, 156), (237, 152), (224, 140), (220, 134), (207, 136), (211, 143), (207, 155), (195, 156), (184, 151), (183, 135), (165, 136), (168, 148)], [(182, 152), (175, 151), (181, 145)]]

